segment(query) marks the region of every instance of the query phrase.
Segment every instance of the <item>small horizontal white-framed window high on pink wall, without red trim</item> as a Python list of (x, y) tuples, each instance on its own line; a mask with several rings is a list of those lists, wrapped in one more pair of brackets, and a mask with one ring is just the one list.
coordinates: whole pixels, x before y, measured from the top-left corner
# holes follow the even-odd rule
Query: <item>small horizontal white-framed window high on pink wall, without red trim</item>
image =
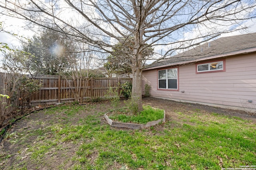
[(206, 71), (215, 71), (215, 70), (223, 70), (223, 61), (197, 65), (197, 72), (206, 72)]

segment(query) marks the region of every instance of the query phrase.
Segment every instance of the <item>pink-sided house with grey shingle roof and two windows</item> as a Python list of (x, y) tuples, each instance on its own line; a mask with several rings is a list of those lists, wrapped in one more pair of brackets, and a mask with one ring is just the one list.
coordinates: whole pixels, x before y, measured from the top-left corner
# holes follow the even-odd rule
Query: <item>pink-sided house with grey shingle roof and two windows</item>
[(155, 98), (256, 112), (256, 33), (194, 47), (148, 66), (142, 76)]

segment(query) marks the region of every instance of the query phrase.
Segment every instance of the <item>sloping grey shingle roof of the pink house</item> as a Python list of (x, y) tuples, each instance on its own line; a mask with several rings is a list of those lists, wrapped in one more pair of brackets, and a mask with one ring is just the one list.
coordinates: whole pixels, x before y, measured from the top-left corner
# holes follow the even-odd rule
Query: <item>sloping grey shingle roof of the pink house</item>
[(207, 59), (216, 59), (219, 57), (228, 57), (232, 55), (251, 53), (256, 51), (256, 33), (234, 35), (230, 37), (221, 37), (209, 43), (204, 43), (174, 55), (169, 59), (164, 59), (144, 70), (160, 68), (165, 66), (193, 63)]

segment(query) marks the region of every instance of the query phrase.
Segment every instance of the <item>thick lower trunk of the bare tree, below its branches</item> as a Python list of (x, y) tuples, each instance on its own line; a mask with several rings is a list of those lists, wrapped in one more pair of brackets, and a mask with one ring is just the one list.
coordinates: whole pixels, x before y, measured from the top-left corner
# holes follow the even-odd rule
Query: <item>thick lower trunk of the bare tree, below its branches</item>
[(142, 111), (142, 69), (133, 68), (132, 69), (132, 104), (131, 111), (136, 114)]

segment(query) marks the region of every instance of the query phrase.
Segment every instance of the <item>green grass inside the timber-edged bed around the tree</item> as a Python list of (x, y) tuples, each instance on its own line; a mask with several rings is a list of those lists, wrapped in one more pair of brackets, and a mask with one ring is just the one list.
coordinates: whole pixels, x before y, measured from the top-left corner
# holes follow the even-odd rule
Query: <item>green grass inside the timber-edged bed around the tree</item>
[(150, 121), (164, 118), (164, 110), (154, 109), (150, 106), (143, 106), (143, 111), (136, 115), (130, 115), (126, 108), (118, 109), (115, 113), (109, 116), (110, 119), (124, 123), (147, 123)]

